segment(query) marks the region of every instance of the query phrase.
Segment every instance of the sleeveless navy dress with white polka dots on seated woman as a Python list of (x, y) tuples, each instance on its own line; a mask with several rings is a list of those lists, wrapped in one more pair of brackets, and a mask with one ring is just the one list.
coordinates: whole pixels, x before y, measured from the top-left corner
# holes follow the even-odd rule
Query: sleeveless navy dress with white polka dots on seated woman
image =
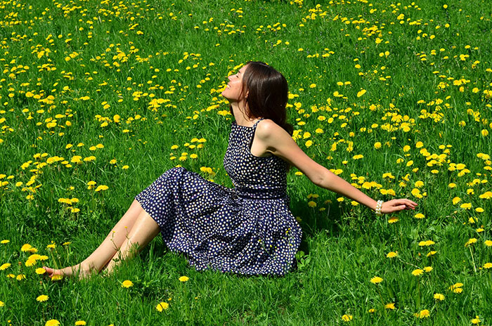
[(224, 168), (234, 188), (178, 167), (135, 197), (167, 247), (197, 270), (285, 275), (294, 266), (302, 230), (285, 192), (287, 162), (250, 152), (261, 119), (252, 127), (231, 124)]

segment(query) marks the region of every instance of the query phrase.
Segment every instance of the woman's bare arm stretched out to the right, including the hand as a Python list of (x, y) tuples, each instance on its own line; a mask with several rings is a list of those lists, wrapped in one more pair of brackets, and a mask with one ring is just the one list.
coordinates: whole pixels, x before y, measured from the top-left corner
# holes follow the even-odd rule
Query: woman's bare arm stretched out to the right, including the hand
[[(285, 159), (290, 164), (302, 171), (314, 184), (332, 190), (335, 193), (351, 198), (370, 209), (375, 210), (377, 202), (361, 190), (333, 174), (304, 153), (292, 137), (283, 128), (270, 119), (264, 119), (257, 126), (257, 136), (264, 143), (268, 152)], [(389, 200), (382, 204), (381, 212), (384, 214), (402, 209), (415, 209), (417, 203), (407, 200)]]

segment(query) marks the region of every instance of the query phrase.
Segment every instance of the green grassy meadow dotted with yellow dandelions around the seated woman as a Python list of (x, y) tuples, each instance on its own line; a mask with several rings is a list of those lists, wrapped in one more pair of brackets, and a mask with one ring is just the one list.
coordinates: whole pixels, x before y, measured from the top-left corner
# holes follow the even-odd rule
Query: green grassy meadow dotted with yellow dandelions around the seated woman
[[(491, 325), (491, 20), (483, 0), (0, 1), (1, 325)], [(160, 237), (112, 275), (42, 275), (171, 167), (233, 186), (220, 93), (249, 60), (287, 78), (307, 155), (417, 210), (294, 168), (284, 278), (197, 272)]]

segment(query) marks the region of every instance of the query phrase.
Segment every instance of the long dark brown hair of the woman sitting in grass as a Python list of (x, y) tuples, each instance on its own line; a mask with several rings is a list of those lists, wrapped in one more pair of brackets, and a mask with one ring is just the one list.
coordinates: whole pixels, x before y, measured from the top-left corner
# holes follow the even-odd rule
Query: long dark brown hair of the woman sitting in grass
[[(260, 61), (250, 61), (246, 64), (242, 76), (242, 94), (247, 94), (247, 117), (254, 119), (264, 117), (271, 119), (292, 136), (292, 125), (287, 123), (287, 98), (289, 87), (287, 80), (273, 67)], [(232, 107), (231, 107), (231, 114)]]

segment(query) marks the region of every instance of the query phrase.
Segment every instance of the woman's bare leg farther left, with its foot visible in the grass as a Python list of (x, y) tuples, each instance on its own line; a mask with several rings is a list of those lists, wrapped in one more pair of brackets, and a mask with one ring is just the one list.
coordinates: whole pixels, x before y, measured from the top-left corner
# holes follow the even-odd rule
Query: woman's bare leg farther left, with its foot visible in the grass
[(106, 236), (105, 240), (89, 257), (81, 263), (77, 263), (77, 265), (65, 267), (60, 270), (45, 267), (46, 272), (48, 272), (50, 277), (53, 275), (72, 275), (74, 273), (79, 273), (83, 277), (93, 271), (98, 273), (115, 256), (119, 247), (127, 240), (131, 229), (134, 227), (142, 211), (143, 209), (140, 203), (134, 200), (127, 212)]

